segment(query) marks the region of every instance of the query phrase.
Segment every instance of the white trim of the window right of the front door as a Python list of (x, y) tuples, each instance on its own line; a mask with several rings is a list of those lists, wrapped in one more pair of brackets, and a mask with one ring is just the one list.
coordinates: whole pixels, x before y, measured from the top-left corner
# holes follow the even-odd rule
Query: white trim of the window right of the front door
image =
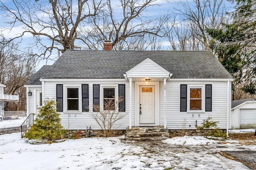
[[(190, 110), (190, 88), (201, 88), (202, 110)], [(188, 84), (187, 85), (187, 113), (205, 113), (205, 84)]]

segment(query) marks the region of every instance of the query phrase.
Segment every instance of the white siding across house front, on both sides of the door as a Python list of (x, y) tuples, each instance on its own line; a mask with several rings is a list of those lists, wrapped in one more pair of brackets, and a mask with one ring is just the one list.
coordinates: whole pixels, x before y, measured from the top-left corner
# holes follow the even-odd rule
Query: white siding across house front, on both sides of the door
[[(100, 129), (96, 121), (90, 117), (92, 111), (93, 102), (93, 84), (105, 84), (118, 87), (118, 84), (125, 84), (125, 96), (126, 96), (126, 111), (119, 112), (120, 114), (126, 114), (126, 116), (116, 122), (114, 129), (126, 129), (129, 126), (129, 82), (128, 81), (100, 81), (100, 80), (77, 80), (75, 82), (64, 81), (52, 81), (44, 83), (44, 98), (56, 99), (56, 84), (63, 84), (64, 86), (71, 86), (70, 84), (88, 84), (89, 89), (89, 112), (82, 113), (63, 113), (60, 112), (60, 118), (62, 119), (62, 125), (65, 129), (86, 129), (91, 127), (92, 129)], [(212, 84), (212, 111), (206, 111), (204, 113), (187, 113), (180, 112), (180, 84)], [(102, 89), (101, 89), (102, 90)], [(118, 91), (118, 89), (116, 89)], [(160, 125), (164, 125), (164, 102), (163, 102), (163, 82), (160, 82)], [(186, 129), (196, 129), (195, 125), (201, 125), (204, 119), (209, 116), (213, 117), (214, 121), (219, 121), (218, 127), (220, 129), (226, 129), (227, 121), (227, 81), (167, 81), (166, 82), (166, 120), (168, 129), (181, 129), (185, 124)], [(132, 126), (134, 126), (134, 82), (132, 82)], [(101, 99), (100, 99), (101, 100)], [(205, 103), (202, 103), (205, 105)], [(137, 112), (137, 111), (136, 111)], [(139, 113), (136, 113), (139, 114)]]

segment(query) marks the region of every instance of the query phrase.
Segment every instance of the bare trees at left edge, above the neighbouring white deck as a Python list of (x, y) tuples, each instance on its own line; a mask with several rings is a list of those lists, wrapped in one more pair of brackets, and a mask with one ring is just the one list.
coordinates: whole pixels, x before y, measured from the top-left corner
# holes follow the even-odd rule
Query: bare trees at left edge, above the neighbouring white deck
[[(6, 85), (6, 94), (20, 96), (20, 108), (26, 109), (26, 90), (23, 85), (34, 73), (35, 61), (33, 56), (20, 53), (18, 45), (0, 39), (0, 83)], [(16, 107), (16, 106), (15, 106)]]

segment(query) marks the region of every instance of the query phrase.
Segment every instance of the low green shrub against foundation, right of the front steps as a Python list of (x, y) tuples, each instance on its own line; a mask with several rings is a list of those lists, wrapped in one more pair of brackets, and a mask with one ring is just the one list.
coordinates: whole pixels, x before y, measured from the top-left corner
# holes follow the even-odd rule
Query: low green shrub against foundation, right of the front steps
[(222, 139), (226, 139), (227, 135), (226, 133), (223, 133), (220, 131), (217, 125), (217, 121), (212, 121), (212, 117), (208, 117), (207, 119), (203, 120), (202, 126), (198, 126), (197, 129), (203, 130), (203, 129), (212, 129), (210, 132), (205, 132), (204, 137), (208, 138), (209, 136), (212, 137), (221, 137)]

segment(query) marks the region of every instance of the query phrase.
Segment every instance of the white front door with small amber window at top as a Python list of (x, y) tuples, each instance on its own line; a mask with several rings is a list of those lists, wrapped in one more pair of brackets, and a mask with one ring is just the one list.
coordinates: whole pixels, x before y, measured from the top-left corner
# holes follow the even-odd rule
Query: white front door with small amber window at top
[(155, 86), (140, 86), (140, 124), (155, 123)]

